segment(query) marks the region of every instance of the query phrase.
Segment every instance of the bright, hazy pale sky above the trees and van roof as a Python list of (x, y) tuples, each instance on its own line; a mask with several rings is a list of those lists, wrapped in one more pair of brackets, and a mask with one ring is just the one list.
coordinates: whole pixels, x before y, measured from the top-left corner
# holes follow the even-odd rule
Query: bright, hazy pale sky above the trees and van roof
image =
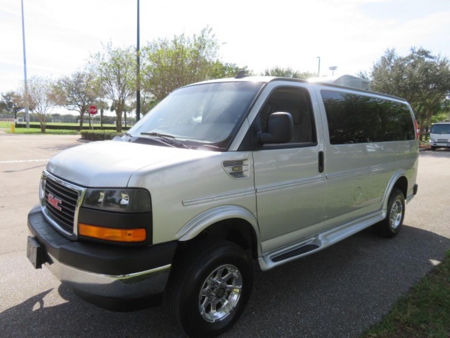
[[(141, 0), (141, 45), (209, 25), (226, 62), (321, 73), (369, 70), (387, 48), (450, 56), (449, 0)], [(58, 77), (101, 48), (136, 41), (136, 1), (24, 0), (28, 75)], [(0, 0), (0, 92), (23, 80), (20, 0)]]

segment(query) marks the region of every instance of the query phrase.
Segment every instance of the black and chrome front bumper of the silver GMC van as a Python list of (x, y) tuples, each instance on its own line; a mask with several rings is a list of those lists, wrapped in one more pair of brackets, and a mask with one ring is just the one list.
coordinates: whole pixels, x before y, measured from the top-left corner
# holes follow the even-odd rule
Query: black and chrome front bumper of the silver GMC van
[(144, 247), (72, 242), (44, 219), (40, 206), (28, 228), (42, 247), (44, 265), (62, 283), (92, 295), (135, 299), (164, 291), (176, 241)]

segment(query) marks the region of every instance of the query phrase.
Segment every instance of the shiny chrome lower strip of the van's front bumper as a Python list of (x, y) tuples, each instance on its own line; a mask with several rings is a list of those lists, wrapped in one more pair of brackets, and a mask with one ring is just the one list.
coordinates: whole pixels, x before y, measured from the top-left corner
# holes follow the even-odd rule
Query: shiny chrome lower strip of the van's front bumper
[(169, 277), (171, 264), (125, 275), (95, 274), (65, 265), (48, 255), (47, 269), (70, 288), (92, 295), (134, 299), (161, 293)]

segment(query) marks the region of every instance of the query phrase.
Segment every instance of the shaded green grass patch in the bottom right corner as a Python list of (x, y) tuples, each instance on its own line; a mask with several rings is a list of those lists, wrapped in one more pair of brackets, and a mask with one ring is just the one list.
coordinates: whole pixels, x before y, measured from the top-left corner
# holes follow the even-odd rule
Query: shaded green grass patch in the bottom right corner
[(362, 338), (450, 337), (450, 251)]

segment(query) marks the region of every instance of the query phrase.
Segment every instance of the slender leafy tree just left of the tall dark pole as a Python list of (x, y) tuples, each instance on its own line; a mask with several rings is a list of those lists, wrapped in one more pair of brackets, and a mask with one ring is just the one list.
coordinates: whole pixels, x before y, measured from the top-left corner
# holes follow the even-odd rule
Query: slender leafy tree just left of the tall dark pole
[(103, 52), (91, 57), (97, 77), (104, 86), (105, 96), (112, 101), (116, 111), (116, 130), (122, 131), (122, 111), (136, 87), (136, 58), (131, 47), (114, 48), (111, 43)]

